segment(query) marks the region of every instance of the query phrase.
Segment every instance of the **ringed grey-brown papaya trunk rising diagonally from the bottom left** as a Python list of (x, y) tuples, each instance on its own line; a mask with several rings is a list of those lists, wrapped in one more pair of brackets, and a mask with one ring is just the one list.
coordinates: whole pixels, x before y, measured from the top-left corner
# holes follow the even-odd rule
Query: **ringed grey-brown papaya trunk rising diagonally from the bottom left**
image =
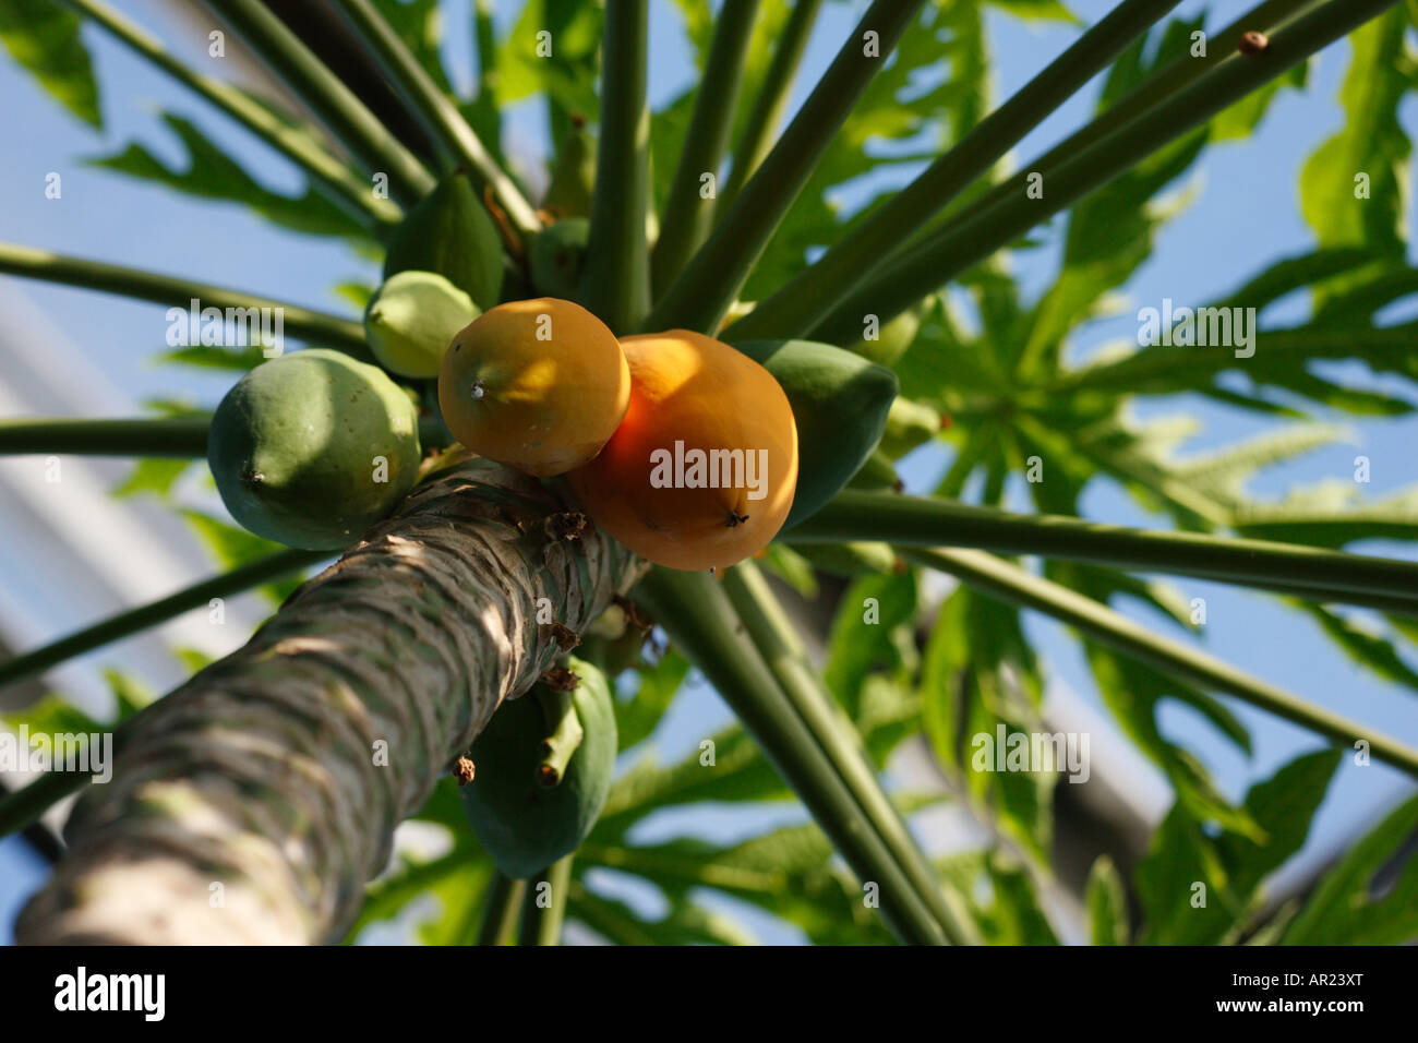
[(638, 575), (530, 478), (475, 460), (427, 481), (133, 722), (17, 939), (342, 938), (394, 826)]

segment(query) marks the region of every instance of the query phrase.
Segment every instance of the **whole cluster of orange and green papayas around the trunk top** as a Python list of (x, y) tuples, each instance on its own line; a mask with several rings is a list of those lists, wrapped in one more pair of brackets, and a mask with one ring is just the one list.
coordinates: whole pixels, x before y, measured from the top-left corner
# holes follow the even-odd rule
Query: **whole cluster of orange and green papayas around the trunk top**
[[(354, 542), (414, 484), (421, 410), (424, 430), (445, 443), (539, 478), (564, 475), (596, 525), (669, 568), (733, 565), (854, 475), (872, 481), (891, 421), (905, 421), (906, 438), (920, 426), (896, 416), (886, 358), (915, 329), (852, 351), (730, 346), (683, 329), (618, 338), (571, 299), (593, 160), (577, 125), (543, 203), (546, 227), (518, 261), (469, 177), (450, 175), (389, 244), (364, 312), (377, 366), (308, 349), (231, 389), (208, 460), (238, 522), (298, 548)], [(580, 684), (539, 685), (499, 708), (469, 751), (469, 822), (516, 877), (574, 850), (613, 773), (610, 683), (584, 660), (557, 673)]]

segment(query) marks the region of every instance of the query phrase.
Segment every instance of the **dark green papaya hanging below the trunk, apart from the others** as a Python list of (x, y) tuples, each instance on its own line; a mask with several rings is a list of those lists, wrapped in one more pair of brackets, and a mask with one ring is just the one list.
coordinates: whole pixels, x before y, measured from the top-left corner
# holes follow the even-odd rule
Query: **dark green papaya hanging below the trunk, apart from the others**
[(556, 786), (539, 778), (542, 742), (554, 724), (537, 688), (503, 702), (474, 741), (474, 779), (458, 792), (464, 812), (498, 868), (525, 880), (580, 847), (601, 813), (615, 773), (615, 707), (605, 674), (586, 660), (567, 664), (580, 678), (571, 705), (581, 744)]

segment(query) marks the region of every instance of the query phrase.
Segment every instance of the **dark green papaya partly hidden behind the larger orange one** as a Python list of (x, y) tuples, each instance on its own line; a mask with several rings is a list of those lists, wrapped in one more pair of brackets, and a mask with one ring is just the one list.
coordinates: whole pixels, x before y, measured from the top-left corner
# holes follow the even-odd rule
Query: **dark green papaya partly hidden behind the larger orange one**
[(798, 429), (798, 484), (783, 531), (817, 512), (856, 474), (886, 427), (896, 375), (811, 341), (735, 345), (783, 386)]

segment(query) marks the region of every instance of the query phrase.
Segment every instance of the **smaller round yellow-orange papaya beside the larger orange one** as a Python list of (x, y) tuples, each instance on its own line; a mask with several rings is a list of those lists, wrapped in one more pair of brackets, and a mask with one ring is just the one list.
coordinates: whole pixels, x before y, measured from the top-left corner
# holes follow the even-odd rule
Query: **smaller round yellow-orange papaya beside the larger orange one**
[[(545, 339), (543, 339), (545, 338)], [(542, 478), (591, 460), (630, 404), (615, 335), (570, 301), (509, 301), (444, 352), (438, 407), (474, 453)]]

